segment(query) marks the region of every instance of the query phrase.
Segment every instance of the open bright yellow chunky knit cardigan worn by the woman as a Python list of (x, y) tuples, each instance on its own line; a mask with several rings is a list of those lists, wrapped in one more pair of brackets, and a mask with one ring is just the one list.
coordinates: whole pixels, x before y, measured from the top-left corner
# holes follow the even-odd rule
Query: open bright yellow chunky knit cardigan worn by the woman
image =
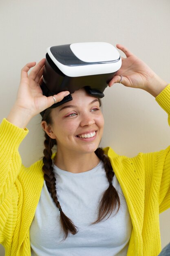
[[(156, 98), (168, 113), (170, 85)], [(6, 256), (30, 256), (29, 229), (44, 182), (42, 160), (26, 168), (18, 147), (28, 130), (3, 119), (0, 125), (0, 243)], [(128, 256), (157, 256), (159, 213), (170, 207), (170, 147), (128, 158), (105, 148), (132, 219)], [(81, 255), (81, 251), (80, 251)]]

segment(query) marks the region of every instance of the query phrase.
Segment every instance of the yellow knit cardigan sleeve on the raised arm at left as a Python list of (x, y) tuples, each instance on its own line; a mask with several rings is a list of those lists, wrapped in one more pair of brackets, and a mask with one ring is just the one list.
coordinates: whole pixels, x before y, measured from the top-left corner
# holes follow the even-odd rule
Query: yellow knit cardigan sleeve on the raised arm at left
[[(12, 235), (17, 216), (17, 178), (21, 168), (18, 147), (28, 133), (3, 119), (0, 124), (0, 243)], [(11, 223), (7, 225), (7, 219)]]

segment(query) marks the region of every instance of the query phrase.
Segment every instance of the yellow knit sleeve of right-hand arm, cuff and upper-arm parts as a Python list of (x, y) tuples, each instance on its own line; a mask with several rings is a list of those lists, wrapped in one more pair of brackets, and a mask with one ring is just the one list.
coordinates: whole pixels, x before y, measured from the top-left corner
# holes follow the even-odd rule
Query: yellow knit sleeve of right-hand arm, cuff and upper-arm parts
[[(167, 112), (170, 125), (170, 84), (156, 97), (156, 101)], [(143, 158), (146, 181), (153, 193), (158, 192), (161, 213), (170, 207), (170, 146), (159, 152), (144, 154)]]

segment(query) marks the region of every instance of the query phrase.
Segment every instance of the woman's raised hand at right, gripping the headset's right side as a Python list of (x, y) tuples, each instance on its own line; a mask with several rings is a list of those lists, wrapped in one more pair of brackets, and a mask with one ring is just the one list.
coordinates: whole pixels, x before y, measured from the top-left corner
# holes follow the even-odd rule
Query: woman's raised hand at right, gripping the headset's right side
[(131, 88), (146, 90), (156, 97), (168, 85), (166, 81), (163, 81), (163, 79), (157, 76), (146, 63), (137, 58), (137, 56), (132, 54), (126, 47), (122, 45), (116, 46), (124, 52), (126, 58), (121, 57), (121, 68), (108, 83), (109, 86), (112, 86), (114, 83), (119, 83), (122, 76), (123, 80), (121, 84)]

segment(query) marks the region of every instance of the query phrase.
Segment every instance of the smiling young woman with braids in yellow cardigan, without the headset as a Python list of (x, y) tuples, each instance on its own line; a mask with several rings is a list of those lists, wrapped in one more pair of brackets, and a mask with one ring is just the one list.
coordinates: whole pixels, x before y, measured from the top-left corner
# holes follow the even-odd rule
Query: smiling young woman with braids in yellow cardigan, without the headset
[[(126, 58), (109, 86), (121, 80), (146, 90), (170, 124), (170, 85), (128, 49), (117, 48)], [(159, 213), (170, 207), (170, 147), (133, 158), (98, 148), (104, 128), (99, 99), (83, 88), (49, 109), (69, 92), (43, 96), (43, 68), (44, 59), (23, 67), (16, 102), (0, 125), (0, 243), (6, 255), (158, 255)], [(43, 110), (44, 157), (26, 168), (18, 147), (28, 122)]]

